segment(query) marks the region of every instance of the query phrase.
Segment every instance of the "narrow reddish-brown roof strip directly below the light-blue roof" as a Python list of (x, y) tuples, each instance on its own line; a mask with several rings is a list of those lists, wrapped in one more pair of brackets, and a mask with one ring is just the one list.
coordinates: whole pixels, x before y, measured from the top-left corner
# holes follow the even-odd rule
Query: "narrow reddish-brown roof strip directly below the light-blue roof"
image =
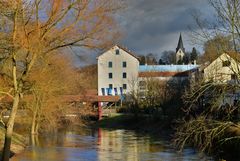
[(187, 77), (189, 72), (139, 72), (139, 77)]

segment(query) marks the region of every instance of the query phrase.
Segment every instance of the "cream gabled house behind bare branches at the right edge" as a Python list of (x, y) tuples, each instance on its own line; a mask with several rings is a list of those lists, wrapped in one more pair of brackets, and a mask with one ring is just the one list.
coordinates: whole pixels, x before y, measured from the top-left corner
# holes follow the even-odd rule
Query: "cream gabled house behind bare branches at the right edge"
[(227, 53), (222, 54), (203, 69), (204, 81), (228, 83), (236, 80), (240, 74), (240, 63)]

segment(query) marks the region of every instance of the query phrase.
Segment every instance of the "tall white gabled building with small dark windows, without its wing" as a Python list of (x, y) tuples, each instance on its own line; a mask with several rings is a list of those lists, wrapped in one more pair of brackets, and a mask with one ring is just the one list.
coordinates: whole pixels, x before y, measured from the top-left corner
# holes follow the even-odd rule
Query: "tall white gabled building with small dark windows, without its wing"
[(138, 57), (115, 45), (97, 60), (98, 95), (120, 95), (130, 92), (132, 80), (137, 80), (138, 77)]

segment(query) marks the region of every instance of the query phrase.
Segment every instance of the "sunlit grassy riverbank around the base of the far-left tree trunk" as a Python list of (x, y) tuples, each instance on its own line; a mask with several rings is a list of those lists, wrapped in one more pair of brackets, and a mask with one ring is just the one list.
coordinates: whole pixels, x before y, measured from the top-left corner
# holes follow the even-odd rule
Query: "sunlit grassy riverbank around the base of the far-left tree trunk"
[[(3, 149), (4, 145), (4, 133), (5, 129), (3, 127), (0, 127), (0, 148)], [(24, 138), (22, 135), (19, 135), (17, 133), (13, 134), (12, 137), (12, 144), (11, 144), (11, 157), (15, 154), (21, 153), (26, 148), (26, 138)], [(2, 150), (0, 151), (0, 157), (2, 155)]]

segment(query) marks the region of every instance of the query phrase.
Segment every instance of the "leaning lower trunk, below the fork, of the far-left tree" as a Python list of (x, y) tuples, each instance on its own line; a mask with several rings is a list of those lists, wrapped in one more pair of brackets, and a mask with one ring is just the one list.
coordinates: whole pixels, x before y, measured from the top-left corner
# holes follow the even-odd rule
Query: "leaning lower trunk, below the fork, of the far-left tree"
[(6, 127), (2, 161), (9, 161), (9, 158), (10, 158), (10, 147), (11, 147), (11, 141), (12, 141), (13, 126), (14, 126), (14, 120), (17, 114), (19, 99), (20, 99), (20, 95), (17, 93), (13, 99), (11, 114)]

